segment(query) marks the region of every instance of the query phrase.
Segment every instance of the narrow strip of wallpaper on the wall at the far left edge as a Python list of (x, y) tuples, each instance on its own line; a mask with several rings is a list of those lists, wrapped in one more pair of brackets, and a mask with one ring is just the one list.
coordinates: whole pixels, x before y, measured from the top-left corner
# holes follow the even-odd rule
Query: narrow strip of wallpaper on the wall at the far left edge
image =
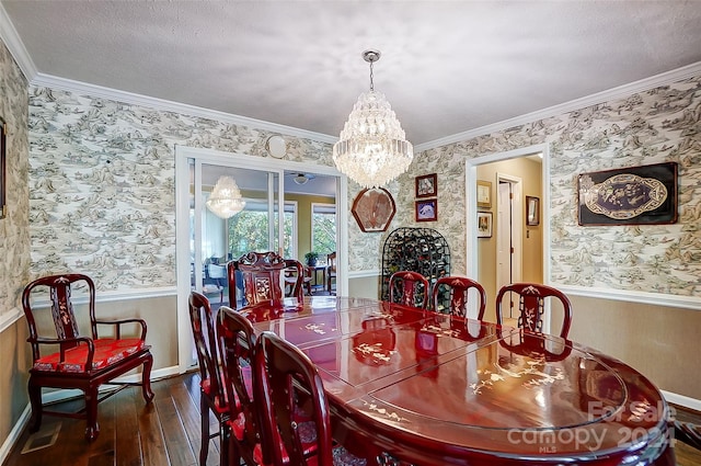
[(30, 272), (27, 82), (0, 41), (0, 117), (5, 123), (7, 216), (0, 219), (0, 315), (21, 308)]

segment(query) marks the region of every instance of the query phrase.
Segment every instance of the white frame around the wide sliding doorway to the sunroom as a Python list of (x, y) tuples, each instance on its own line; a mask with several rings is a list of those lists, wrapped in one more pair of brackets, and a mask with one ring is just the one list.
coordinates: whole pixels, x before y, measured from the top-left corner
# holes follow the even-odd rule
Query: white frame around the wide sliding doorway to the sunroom
[[(253, 157), (241, 154), (222, 152), (214, 149), (202, 149), (175, 146), (175, 276), (177, 288), (177, 360), (181, 374), (187, 371), (193, 353), (193, 338), (189, 325), (187, 300), (189, 297), (189, 166), (188, 159), (204, 163), (242, 167), (252, 170), (279, 171), (289, 170), (304, 173), (318, 173), (336, 177), (336, 245), (340, 251), (348, 250), (348, 179), (335, 167), (315, 166), (289, 160)], [(283, 177), (278, 180), (279, 192), (284, 193)], [(195, 180), (202, 183), (202, 180)], [(284, 196), (280, 196), (284, 200)], [(280, 211), (281, 212), (281, 211)], [(197, 217), (195, 218), (197, 221)], [(281, 225), (281, 223), (280, 223)], [(348, 289), (348, 254), (340, 254), (336, 266), (338, 296)]]

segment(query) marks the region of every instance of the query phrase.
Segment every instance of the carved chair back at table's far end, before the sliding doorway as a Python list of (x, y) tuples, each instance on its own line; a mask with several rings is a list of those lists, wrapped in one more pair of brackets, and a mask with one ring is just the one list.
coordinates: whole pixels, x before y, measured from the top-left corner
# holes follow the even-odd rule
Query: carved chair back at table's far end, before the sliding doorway
[[(285, 297), (284, 271), (289, 266), (297, 269), (299, 262), (286, 260), (273, 252), (249, 252), (227, 264), (229, 282), (229, 304), (237, 309), (239, 306), (249, 306), (262, 302), (268, 302), (273, 307), (280, 307)], [(301, 264), (299, 264), (301, 266)], [(235, 286), (237, 274), (240, 273), (243, 282), (243, 296), (238, 296)], [(298, 277), (301, 280), (299, 272)], [(302, 286), (297, 286), (298, 305), (303, 302)]]

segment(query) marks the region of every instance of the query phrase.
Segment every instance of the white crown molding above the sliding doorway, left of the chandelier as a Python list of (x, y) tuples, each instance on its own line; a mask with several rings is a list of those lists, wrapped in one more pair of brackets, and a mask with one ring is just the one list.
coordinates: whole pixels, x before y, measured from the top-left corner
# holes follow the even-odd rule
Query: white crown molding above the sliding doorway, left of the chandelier
[(60, 89), (94, 98), (108, 99), (117, 102), (124, 102), (133, 105), (142, 105), (162, 112), (175, 112), (189, 116), (198, 116), (202, 118), (215, 120), (218, 122), (248, 126), (256, 129), (264, 129), (272, 133), (279, 133), (287, 136), (299, 137), (302, 139), (311, 139), (320, 143), (334, 144), (337, 137), (313, 133), (306, 129), (295, 128), (292, 126), (278, 125), (276, 123), (264, 122), (262, 120), (249, 118), (246, 116), (234, 115), (231, 113), (219, 112), (216, 110), (204, 109), (200, 106), (188, 105), (185, 103), (173, 102), (164, 99), (152, 98), (148, 95), (137, 94), (118, 89), (105, 88), (102, 86), (90, 84), (87, 82), (74, 81), (72, 79), (59, 78), (51, 75), (36, 73), (35, 78), (30, 82), (32, 86), (47, 87), (51, 89)]

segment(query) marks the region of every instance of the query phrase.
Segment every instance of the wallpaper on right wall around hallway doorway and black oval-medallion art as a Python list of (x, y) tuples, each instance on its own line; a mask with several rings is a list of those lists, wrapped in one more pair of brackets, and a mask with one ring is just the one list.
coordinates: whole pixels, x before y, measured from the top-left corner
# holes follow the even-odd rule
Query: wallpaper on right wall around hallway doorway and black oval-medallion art
[[(701, 77), (422, 152), (401, 179), (393, 224), (416, 225), (414, 177), (437, 172), (440, 207), (450, 207), (421, 226), (440, 231), (452, 270), (466, 270), (466, 158), (537, 144), (551, 157), (553, 283), (701, 296)], [(679, 168), (677, 224), (577, 225), (579, 173), (667, 161)]]

